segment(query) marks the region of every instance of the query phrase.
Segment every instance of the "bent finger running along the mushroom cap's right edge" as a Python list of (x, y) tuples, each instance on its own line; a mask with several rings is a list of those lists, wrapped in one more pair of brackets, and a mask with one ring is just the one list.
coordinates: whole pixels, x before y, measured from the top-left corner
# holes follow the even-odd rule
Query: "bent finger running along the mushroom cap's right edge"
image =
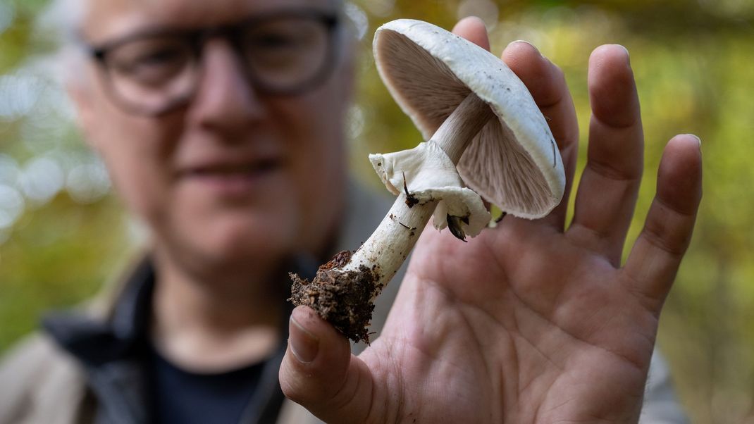
[(526, 41), (508, 44), (503, 51), (503, 61), (532, 93), (558, 144), (566, 168), (566, 191), (560, 205), (542, 221), (562, 230), (578, 156), (578, 121), (566, 78), (557, 66)]

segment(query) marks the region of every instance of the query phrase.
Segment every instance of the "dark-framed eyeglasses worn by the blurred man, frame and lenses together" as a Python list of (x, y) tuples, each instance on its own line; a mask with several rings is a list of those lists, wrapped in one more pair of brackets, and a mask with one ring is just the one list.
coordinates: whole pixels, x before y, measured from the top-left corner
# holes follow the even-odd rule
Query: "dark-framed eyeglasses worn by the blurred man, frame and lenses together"
[(158, 29), (91, 47), (106, 90), (121, 108), (159, 115), (188, 104), (201, 80), (205, 42), (223, 37), (260, 93), (293, 96), (311, 90), (335, 64), (335, 14), (277, 11), (228, 26)]

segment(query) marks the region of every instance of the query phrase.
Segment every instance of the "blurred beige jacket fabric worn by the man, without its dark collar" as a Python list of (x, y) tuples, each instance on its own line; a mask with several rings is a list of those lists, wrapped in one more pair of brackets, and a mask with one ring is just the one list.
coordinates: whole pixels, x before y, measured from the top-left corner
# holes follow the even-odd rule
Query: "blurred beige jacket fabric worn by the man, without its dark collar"
[[(352, 188), (349, 192), (351, 206), (345, 221), (339, 250), (359, 246), (369, 231), (376, 227), (388, 209), (385, 199)], [(388, 285), (378, 300), (372, 323), (380, 331), (403, 278), (403, 269), (395, 282)], [(112, 315), (118, 298), (117, 290), (87, 307), (91, 316), (105, 319)], [(360, 351), (363, 346), (354, 346)], [(653, 361), (645, 395), (642, 422), (682, 423), (685, 418), (670, 387), (667, 367), (661, 360)], [(83, 366), (68, 352), (57, 346), (47, 334), (33, 334), (21, 341), (6, 355), (0, 366), (0, 424), (74, 424), (95, 422), (97, 399), (88, 389), (87, 374)], [(277, 422), (301, 424), (320, 422), (303, 407), (284, 401)]]

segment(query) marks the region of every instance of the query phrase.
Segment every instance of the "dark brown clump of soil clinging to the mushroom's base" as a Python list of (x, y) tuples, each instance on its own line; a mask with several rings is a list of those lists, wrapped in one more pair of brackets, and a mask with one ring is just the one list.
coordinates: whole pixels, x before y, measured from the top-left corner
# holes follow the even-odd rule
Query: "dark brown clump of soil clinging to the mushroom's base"
[(369, 322), (375, 309), (372, 297), (382, 290), (379, 270), (362, 265), (358, 271), (340, 268), (351, 260), (351, 252), (340, 252), (317, 270), (309, 282), (291, 273), (293, 287), (289, 300), (306, 305), (354, 342), (369, 343)]

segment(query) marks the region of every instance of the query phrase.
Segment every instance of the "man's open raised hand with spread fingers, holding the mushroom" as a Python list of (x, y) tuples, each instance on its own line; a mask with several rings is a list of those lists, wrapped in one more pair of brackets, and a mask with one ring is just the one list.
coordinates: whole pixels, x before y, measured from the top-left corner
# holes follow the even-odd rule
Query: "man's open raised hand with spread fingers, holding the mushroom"
[[(454, 32), (489, 48), (478, 20)], [(608, 45), (590, 57), (588, 159), (567, 229), (578, 125), (565, 78), (526, 43), (503, 59), (549, 118), (566, 166), (562, 203), (540, 220), (504, 218), (467, 244), (426, 231), (382, 334), (358, 357), (297, 308), (297, 355), (289, 346), (280, 384), (327, 422), (638, 420), (657, 320), (700, 202), (698, 140), (667, 144), (621, 267), (643, 155), (627, 52)]]

